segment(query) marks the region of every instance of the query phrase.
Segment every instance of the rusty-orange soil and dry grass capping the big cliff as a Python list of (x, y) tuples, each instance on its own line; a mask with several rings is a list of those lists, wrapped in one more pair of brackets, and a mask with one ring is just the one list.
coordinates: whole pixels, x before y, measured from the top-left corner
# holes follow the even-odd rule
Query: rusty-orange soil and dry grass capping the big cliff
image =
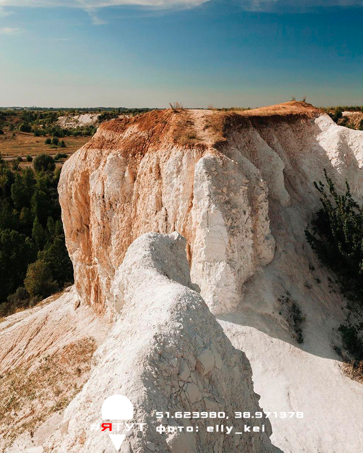
[(213, 147), (224, 142), (228, 130), (235, 127), (250, 127), (251, 123), (260, 125), (264, 122), (295, 121), (299, 117), (313, 118), (319, 113), (320, 110), (312, 105), (296, 101), (251, 110), (153, 110), (137, 117), (102, 123), (98, 133), (84, 148), (117, 147), (139, 161), (146, 152), (152, 152), (165, 144)]

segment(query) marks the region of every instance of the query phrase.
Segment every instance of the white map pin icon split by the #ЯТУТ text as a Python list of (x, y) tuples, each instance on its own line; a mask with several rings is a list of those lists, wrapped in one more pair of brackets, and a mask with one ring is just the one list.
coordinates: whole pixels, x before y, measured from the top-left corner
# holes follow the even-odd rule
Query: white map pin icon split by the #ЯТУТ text
[[(112, 395), (103, 402), (101, 413), (103, 420), (131, 420), (133, 406), (131, 401), (123, 395)], [(119, 451), (125, 436), (125, 434), (109, 434), (117, 451)]]

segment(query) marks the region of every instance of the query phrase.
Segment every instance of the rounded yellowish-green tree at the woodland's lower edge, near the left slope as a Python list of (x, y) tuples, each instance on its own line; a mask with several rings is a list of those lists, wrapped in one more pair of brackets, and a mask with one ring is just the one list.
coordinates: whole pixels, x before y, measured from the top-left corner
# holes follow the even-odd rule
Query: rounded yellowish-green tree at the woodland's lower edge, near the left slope
[(52, 294), (57, 285), (52, 280), (49, 263), (42, 259), (31, 263), (28, 266), (24, 286), (31, 297), (40, 296), (44, 298)]

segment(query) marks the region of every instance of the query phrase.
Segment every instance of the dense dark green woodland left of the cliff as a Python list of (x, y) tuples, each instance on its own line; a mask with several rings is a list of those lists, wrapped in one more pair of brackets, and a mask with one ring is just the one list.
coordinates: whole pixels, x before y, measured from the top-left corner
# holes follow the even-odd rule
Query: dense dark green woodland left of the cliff
[(39, 155), (10, 168), (0, 154), (0, 316), (73, 282), (58, 197), (60, 169)]

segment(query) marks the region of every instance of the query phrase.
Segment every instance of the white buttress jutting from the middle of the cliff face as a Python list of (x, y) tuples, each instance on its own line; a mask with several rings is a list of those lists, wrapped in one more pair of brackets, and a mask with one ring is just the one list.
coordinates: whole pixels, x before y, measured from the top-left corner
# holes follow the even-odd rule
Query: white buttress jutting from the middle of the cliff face
[(274, 256), (267, 194), (243, 157), (207, 154), (196, 165), (191, 272), (214, 313), (233, 310), (244, 281)]

